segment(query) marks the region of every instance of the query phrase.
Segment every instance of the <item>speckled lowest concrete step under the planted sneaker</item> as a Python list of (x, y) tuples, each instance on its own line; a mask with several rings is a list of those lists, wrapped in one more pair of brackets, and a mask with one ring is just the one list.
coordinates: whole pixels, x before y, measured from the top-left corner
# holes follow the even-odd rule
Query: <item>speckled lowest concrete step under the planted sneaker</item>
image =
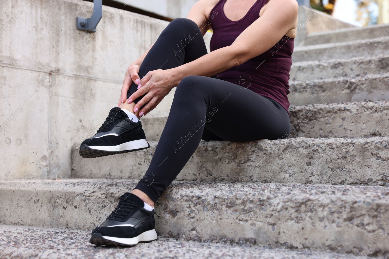
[[(271, 249), (219, 243), (177, 241), (159, 237), (151, 243), (139, 243), (133, 247), (96, 247), (89, 243), (90, 231), (28, 226), (0, 225), (1, 258), (170, 258), (170, 259), (368, 259), (367, 257), (334, 252), (317, 252), (313, 249)], [(29, 242), (25, 242), (29, 240)], [(128, 257), (131, 255), (131, 257)]]

